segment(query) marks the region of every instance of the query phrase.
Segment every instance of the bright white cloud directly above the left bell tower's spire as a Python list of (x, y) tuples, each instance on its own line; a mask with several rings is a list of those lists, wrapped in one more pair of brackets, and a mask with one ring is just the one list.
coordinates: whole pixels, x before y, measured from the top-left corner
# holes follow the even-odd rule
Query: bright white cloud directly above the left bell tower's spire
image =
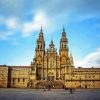
[(40, 29), (41, 24), (43, 28), (47, 28), (50, 25), (50, 19), (44, 12), (37, 12), (33, 17), (31, 22), (25, 22), (22, 25), (22, 34), (23, 36), (28, 36), (30, 33), (33, 33), (36, 30)]

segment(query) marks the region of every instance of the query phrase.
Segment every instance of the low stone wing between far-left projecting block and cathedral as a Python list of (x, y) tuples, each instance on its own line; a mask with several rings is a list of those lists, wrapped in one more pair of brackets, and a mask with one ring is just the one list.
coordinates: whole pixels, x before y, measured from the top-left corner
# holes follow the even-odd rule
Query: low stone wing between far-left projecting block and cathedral
[(31, 66), (9, 66), (8, 87), (12, 88), (29, 87), (30, 74), (31, 74)]

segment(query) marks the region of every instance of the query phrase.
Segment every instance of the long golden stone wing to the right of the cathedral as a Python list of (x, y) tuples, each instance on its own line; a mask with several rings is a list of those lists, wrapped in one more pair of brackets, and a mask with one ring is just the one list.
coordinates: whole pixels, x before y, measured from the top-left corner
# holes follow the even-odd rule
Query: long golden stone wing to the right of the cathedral
[(100, 88), (100, 68), (72, 68), (65, 79), (67, 88)]

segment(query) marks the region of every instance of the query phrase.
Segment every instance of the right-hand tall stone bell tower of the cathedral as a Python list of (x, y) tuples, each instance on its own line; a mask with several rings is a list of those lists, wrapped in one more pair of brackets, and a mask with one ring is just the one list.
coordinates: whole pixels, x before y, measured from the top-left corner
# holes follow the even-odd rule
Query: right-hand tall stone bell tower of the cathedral
[(60, 39), (60, 79), (65, 80), (66, 68), (69, 66), (69, 55), (68, 55), (68, 39), (66, 37), (65, 28), (63, 27), (62, 36)]

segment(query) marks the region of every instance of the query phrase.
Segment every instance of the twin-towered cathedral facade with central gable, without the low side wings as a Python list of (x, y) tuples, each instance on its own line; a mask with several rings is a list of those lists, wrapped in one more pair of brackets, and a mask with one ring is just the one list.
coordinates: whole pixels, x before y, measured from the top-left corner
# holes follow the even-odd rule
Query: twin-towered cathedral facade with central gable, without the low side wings
[(74, 67), (72, 54), (69, 56), (68, 39), (65, 30), (63, 29), (60, 39), (59, 53), (57, 53), (57, 49), (52, 40), (48, 49), (45, 50), (42, 29), (39, 33), (36, 44), (35, 57), (31, 65), (33, 68), (36, 68), (37, 80), (64, 80), (65, 69)]

